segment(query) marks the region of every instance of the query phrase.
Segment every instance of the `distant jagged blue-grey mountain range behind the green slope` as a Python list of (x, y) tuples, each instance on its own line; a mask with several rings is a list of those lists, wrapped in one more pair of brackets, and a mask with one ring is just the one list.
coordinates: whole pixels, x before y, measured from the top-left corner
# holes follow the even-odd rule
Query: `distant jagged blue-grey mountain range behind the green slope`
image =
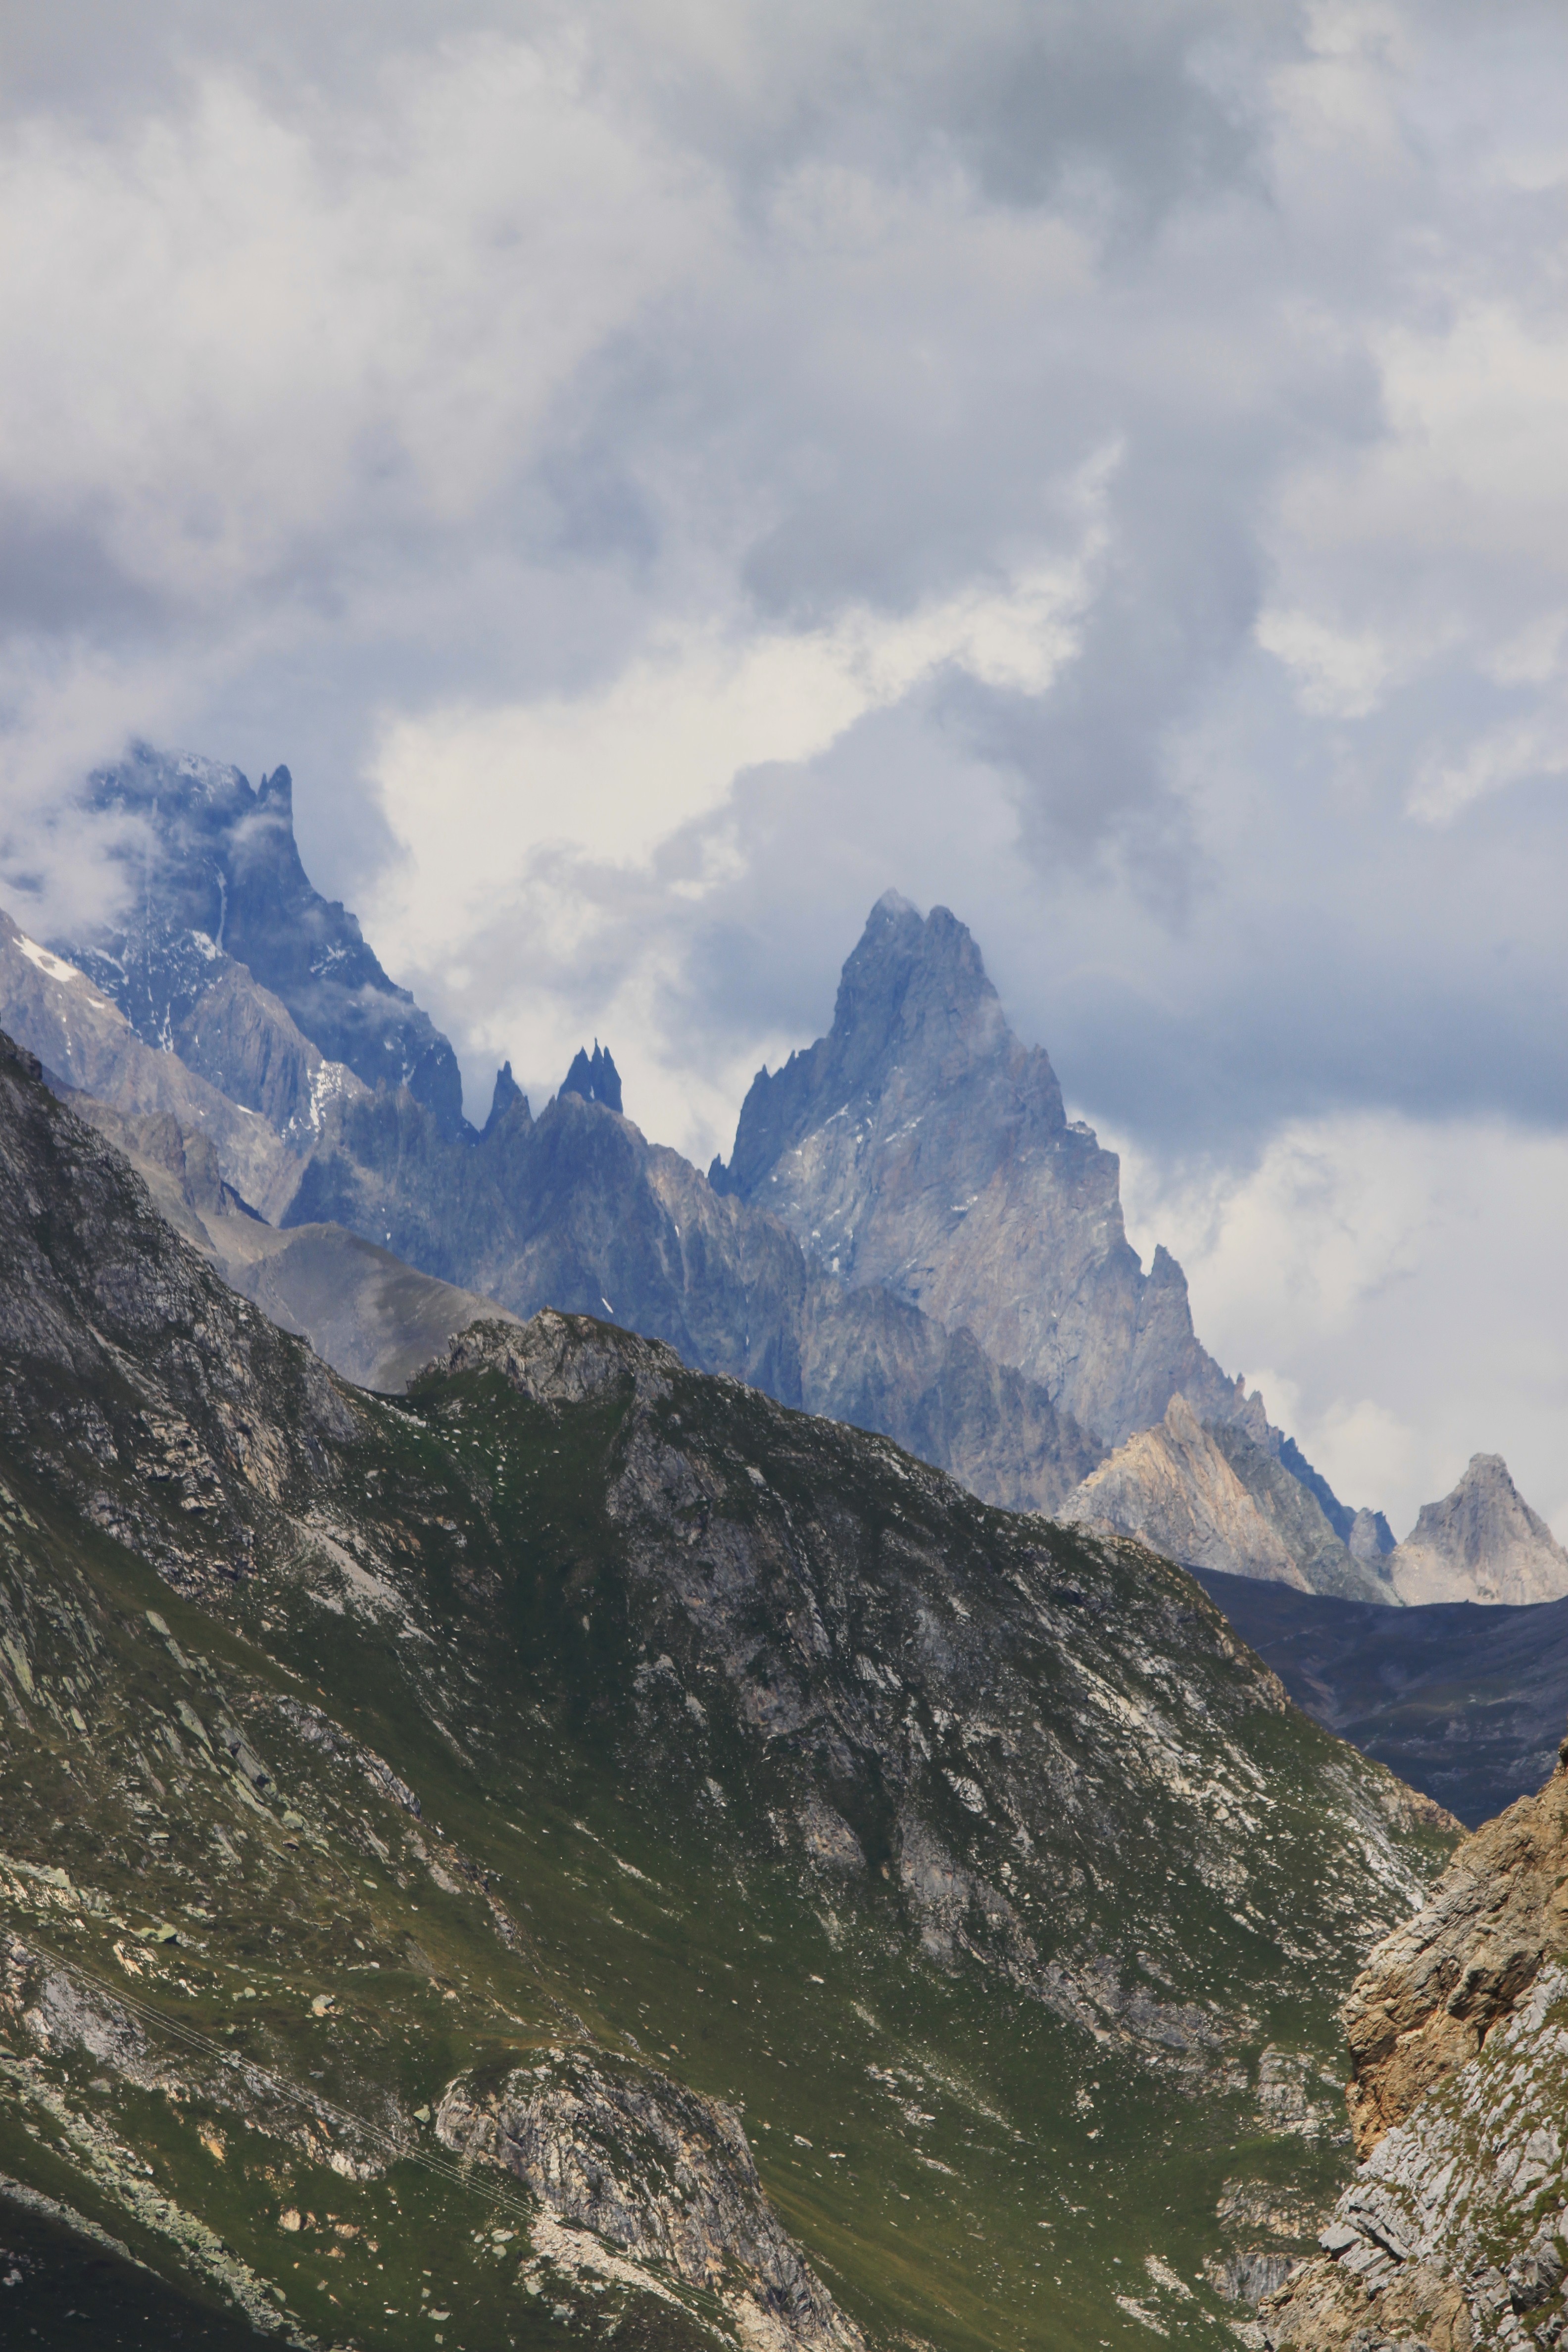
[[(118, 1141), (143, 1164), (212, 1145), (233, 1195), (221, 1232), (205, 1216), (214, 1258), (350, 1376), (390, 1378), (423, 1345), (400, 1350), (369, 1244), (522, 1317), (552, 1303), (665, 1338), (987, 1501), (1201, 1566), (1408, 1597), (1380, 1515), (1345, 1508), (1199, 1345), (1175, 1261), (1157, 1249), (1143, 1270), (1114, 1155), (1065, 1117), (947, 910), (877, 903), (830, 1033), (759, 1073), (729, 1164), (703, 1178), (623, 1115), (597, 1042), (538, 1117), (503, 1068), (475, 1131), (449, 1044), (310, 889), (287, 769), (252, 790), (141, 748), (89, 795), (125, 826), (129, 913), (49, 948), (5, 922), (0, 1018), (134, 1122)], [(263, 1244), (247, 1207), (313, 1228), (310, 1247)], [(473, 1312), (404, 1289), (418, 1334), (421, 1312)]]

